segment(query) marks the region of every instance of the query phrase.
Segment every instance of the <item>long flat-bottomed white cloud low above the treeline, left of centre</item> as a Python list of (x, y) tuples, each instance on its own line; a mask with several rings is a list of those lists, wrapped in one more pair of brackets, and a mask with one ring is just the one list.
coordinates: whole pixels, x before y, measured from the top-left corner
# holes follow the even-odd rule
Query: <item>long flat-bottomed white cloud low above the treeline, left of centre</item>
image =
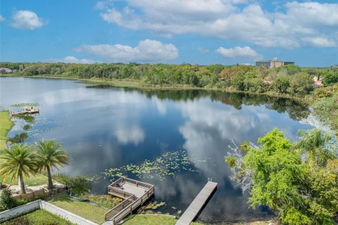
[(97, 44), (78, 46), (74, 50), (99, 56), (110, 62), (162, 61), (178, 57), (178, 49), (175, 45), (150, 39), (139, 41), (135, 47), (122, 44)]

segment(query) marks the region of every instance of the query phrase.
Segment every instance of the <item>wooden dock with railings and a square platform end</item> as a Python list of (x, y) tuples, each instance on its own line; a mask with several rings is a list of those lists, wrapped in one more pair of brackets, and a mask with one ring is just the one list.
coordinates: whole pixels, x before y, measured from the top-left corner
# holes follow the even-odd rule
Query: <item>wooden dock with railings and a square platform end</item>
[(115, 225), (154, 195), (154, 185), (121, 177), (108, 186), (108, 194), (123, 201), (104, 214), (104, 225)]

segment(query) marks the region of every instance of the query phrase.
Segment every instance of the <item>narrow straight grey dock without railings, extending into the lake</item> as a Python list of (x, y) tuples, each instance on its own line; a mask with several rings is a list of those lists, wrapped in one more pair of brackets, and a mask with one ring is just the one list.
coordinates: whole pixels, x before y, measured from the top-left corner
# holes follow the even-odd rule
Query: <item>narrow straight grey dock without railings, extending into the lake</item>
[(216, 188), (217, 183), (208, 181), (175, 225), (189, 225), (208, 203)]

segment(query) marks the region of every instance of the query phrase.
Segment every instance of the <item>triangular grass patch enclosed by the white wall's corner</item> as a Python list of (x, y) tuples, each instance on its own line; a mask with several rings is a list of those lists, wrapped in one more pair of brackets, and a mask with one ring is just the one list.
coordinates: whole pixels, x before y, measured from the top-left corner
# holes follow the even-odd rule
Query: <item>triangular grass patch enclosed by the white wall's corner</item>
[(30, 212), (21, 217), (11, 219), (4, 222), (3, 225), (72, 225), (70, 221), (62, 219), (57, 215), (46, 212), (45, 210), (37, 210)]

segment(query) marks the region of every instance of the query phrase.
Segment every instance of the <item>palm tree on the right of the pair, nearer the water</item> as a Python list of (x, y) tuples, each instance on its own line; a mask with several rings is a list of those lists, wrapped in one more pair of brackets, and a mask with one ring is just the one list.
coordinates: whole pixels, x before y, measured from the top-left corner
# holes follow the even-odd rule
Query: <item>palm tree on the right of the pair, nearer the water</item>
[(47, 171), (48, 174), (48, 188), (53, 188), (53, 181), (51, 180), (51, 170), (53, 167), (63, 166), (68, 164), (68, 155), (61, 147), (61, 143), (54, 139), (43, 140), (36, 142), (37, 147), (37, 161), (39, 162), (39, 170)]

